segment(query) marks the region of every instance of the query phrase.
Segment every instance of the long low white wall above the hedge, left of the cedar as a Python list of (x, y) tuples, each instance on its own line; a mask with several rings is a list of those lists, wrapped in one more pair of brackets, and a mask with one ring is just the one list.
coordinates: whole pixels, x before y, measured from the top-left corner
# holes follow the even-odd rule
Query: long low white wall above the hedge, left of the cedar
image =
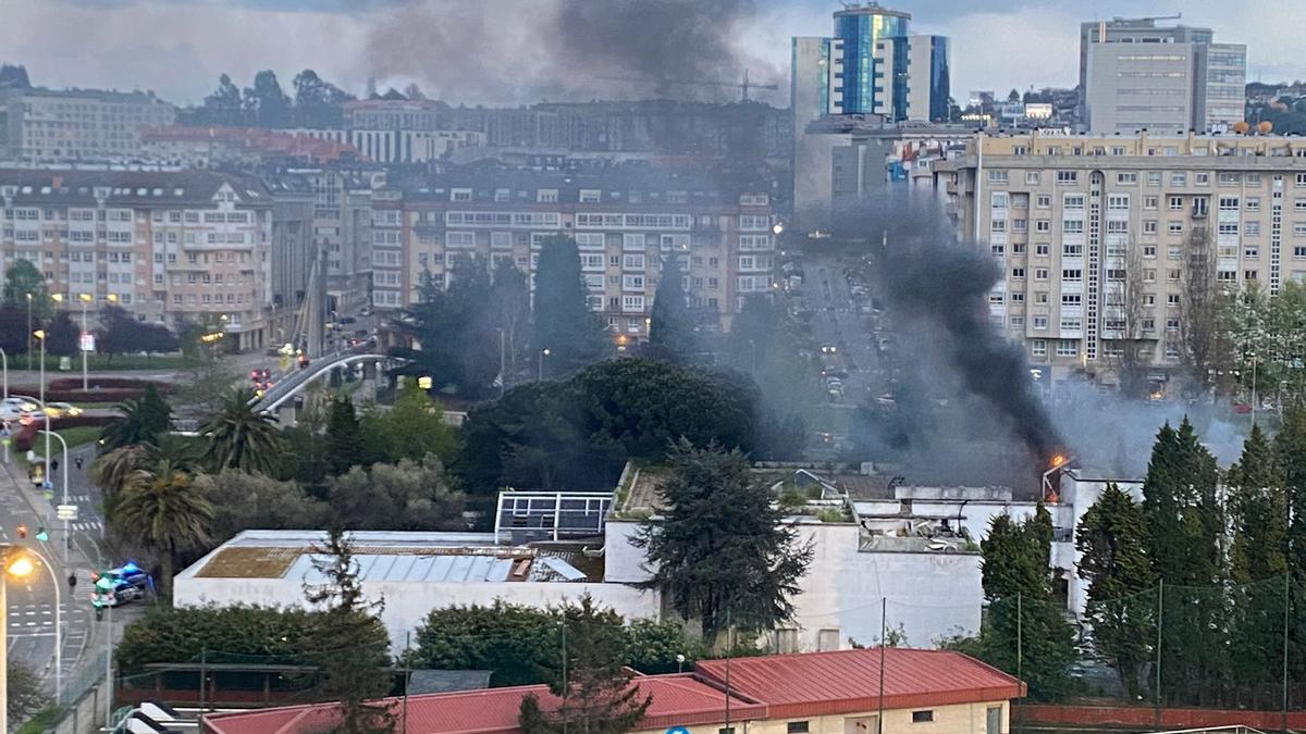
[[(302, 606), (304, 590), (296, 579), (197, 579), (179, 576), (172, 592), (176, 606), (264, 605)], [(456, 605), (490, 605), (495, 599), (529, 606), (576, 601), (586, 593), (627, 619), (657, 619), (660, 598), (623, 584), (549, 584), (504, 581), (483, 584), (363, 582), (368, 599), (385, 599), (381, 622), (390, 645), (404, 648), (405, 632), (414, 631), (434, 609)]]

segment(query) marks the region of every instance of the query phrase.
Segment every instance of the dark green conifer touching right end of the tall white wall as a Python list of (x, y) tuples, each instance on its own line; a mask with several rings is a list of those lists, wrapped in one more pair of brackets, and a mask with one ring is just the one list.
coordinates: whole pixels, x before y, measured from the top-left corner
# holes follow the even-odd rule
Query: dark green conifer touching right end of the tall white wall
[(1042, 505), (1019, 524), (999, 515), (980, 550), (989, 599), (989, 619), (981, 630), (982, 657), (1027, 680), (1034, 699), (1064, 696), (1075, 640), (1051, 594), (1051, 515)]

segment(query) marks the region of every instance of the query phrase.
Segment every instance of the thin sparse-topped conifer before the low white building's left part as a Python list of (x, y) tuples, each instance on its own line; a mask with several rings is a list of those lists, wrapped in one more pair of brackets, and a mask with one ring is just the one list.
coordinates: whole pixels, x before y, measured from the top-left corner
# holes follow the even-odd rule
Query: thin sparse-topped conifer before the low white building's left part
[(381, 734), (393, 731), (394, 714), (375, 701), (389, 694), (389, 639), (379, 619), (384, 602), (367, 601), (358, 581), (358, 563), (345, 530), (334, 525), (326, 546), (317, 549), (313, 568), (326, 582), (304, 585), (304, 597), (323, 610), (313, 628), (319, 683), (316, 694), (341, 703), (341, 722), (336, 731)]

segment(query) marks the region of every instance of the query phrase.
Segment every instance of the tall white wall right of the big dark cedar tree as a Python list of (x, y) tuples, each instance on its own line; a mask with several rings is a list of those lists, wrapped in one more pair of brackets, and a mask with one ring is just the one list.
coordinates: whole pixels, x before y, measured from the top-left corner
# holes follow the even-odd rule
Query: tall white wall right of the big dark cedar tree
[(859, 552), (858, 526), (842, 522), (799, 525), (798, 532), (815, 551), (794, 598), (802, 649), (819, 649), (821, 630), (837, 631), (838, 648), (848, 648), (850, 637), (875, 644), (882, 597), (888, 627), (901, 626), (910, 646), (930, 648), (939, 637), (980, 628), (977, 554)]

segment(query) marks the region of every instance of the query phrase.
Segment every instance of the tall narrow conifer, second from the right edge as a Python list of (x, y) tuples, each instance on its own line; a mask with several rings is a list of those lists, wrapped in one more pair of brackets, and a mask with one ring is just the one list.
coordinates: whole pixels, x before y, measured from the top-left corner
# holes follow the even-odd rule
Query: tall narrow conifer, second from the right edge
[[(1282, 473), (1273, 449), (1252, 424), (1242, 456), (1226, 478), (1229, 520), (1229, 576), (1233, 619), (1230, 658), (1234, 680), (1250, 688), (1273, 690), (1279, 678), (1284, 635), (1282, 579), (1288, 573), (1288, 505)], [(1262, 700), (1273, 704), (1275, 700)]]

